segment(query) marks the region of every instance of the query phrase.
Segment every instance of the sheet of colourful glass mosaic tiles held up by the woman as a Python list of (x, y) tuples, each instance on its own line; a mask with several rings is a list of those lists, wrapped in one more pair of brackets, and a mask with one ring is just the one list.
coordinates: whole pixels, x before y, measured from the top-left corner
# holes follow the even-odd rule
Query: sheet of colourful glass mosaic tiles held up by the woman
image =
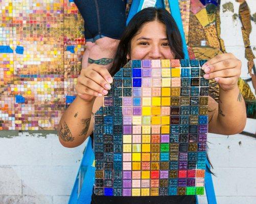
[(133, 60), (115, 74), (95, 114), (96, 195), (204, 193), (204, 62)]

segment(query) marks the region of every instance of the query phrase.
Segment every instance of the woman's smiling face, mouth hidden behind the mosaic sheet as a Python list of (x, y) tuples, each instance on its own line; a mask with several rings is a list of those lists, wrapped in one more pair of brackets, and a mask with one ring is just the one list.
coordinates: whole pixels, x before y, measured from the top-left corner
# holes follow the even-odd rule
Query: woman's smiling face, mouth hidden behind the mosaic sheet
[(175, 59), (166, 35), (166, 26), (155, 20), (145, 23), (131, 40), (131, 60)]

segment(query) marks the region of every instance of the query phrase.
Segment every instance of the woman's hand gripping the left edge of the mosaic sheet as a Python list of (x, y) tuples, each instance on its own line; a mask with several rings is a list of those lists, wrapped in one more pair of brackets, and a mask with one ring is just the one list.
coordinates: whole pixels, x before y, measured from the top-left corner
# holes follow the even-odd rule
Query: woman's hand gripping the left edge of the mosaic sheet
[(90, 64), (81, 70), (77, 78), (76, 91), (80, 98), (92, 101), (108, 93), (113, 79), (106, 68), (98, 64)]

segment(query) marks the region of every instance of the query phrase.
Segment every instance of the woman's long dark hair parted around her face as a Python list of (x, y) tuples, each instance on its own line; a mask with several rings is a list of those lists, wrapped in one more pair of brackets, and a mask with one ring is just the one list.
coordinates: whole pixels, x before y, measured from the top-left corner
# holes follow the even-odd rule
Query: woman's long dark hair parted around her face
[(176, 22), (171, 14), (166, 9), (156, 9), (154, 7), (149, 7), (136, 13), (124, 30), (117, 48), (117, 52), (113, 58), (112, 67), (110, 69), (110, 74), (112, 76), (118, 72), (120, 67), (126, 64), (126, 56), (127, 54), (130, 54), (131, 51), (132, 38), (145, 23), (154, 20), (158, 20), (159, 22), (162, 22), (166, 25), (166, 35), (170, 44), (170, 48), (175, 55), (175, 59), (184, 58), (181, 36)]

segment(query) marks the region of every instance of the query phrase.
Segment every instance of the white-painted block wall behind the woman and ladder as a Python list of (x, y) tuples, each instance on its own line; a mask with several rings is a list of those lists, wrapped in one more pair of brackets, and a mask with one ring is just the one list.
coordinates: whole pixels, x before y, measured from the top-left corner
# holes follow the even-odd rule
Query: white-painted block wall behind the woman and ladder
[[(242, 60), (242, 75), (248, 78), (247, 60), (239, 19), (222, 11), (231, 2), (238, 14), (239, 3), (221, 0), (221, 37), (227, 52)], [(247, 0), (251, 14), (255, 0)], [(251, 47), (256, 55), (256, 25), (253, 21)], [(251, 83), (249, 83), (250, 86)], [(247, 119), (245, 131), (255, 133), (256, 120)], [(7, 136), (8, 135), (8, 136)], [(0, 132), (0, 204), (65, 204), (71, 193), (85, 143), (73, 149), (60, 145), (57, 135)], [(214, 166), (217, 201), (221, 204), (256, 203), (256, 139), (244, 135), (208, 135), (208, 154)], [(207, 203), (199, 197), (200, 204)]]

